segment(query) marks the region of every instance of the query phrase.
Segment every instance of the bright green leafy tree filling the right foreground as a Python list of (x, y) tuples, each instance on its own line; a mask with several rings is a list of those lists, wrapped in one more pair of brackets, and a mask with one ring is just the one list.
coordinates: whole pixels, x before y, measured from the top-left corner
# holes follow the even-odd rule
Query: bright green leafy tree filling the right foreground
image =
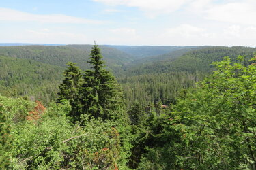
[(173, 106), (158, 144), (140, 166), (255, 169), (255, 64), (214, 63), (216, 71)]

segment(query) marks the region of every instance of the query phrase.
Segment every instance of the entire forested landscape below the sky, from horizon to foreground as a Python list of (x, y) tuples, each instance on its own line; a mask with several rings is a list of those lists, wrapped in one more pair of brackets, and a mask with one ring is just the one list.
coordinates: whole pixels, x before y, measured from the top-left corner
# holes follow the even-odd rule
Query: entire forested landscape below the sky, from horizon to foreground
[(1, 46), (0, 169), (256, 169), (255, 52)]

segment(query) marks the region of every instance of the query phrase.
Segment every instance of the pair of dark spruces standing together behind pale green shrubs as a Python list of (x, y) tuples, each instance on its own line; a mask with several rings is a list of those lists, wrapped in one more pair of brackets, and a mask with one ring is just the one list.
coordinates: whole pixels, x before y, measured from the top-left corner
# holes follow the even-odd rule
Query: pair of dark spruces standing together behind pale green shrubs
[(125, 165), (126, 158), (130, 156), (131, 146), (130, 124), (124, 109), (122, 90), (113, 75), (104, 69), (104, 61), (97, 45), (91, 49), (89, 63), (92, 70), (85, 71), (83, 75), (74, 63), (68, 63), (68, 69), (64, 72), (66, 78), (59, 86), (59, 101), (69, 101), (72, 108), (69, 115), (73, 120), (79, 120), (83, 126), (87, 126), (88, 121), (98, 118), (106, 122), (111, 120), (122, 141), (119, 157), (120, 163)]

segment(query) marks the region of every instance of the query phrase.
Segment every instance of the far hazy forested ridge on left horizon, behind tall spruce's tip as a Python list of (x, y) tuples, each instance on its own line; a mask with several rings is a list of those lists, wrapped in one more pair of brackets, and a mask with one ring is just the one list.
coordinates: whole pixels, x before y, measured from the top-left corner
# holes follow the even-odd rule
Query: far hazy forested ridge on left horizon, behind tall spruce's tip
[[(26, 58), (50, 65), (65, 67), (69, 61), (78, 63), (81, 69), (89, 69), (87, 63), (90, 45), (72, 46), (5, 46), (0, 54), (16, 58)], [(132, 61), (132, 56), (113, 48), (102, 47), (106, 65), (112, 71), (119, 71), (123, 65)]]

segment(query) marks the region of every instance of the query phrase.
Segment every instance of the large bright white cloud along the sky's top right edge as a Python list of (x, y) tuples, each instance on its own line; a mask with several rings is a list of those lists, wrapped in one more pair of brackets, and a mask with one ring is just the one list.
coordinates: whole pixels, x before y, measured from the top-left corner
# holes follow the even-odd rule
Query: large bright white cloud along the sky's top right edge
[(92, 0), (106, 5), (137, 7), (149, 17), (183, 9), (184, 14), (235, 24), (256, 24), (255, 0)]

